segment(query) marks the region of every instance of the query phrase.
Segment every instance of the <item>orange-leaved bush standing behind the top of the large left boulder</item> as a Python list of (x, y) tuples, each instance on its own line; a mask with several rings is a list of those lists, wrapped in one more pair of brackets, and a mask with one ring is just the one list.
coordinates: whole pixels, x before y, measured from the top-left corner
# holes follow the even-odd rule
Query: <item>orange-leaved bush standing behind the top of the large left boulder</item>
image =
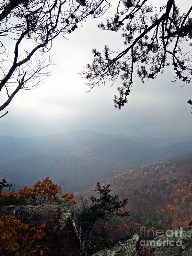
[(32, 188), (24, 187), (19, 191), (19, 196), (22, 197), (26, 204), (58, 204), (71, 206), (76, 204), (73, 194), (61, 194), (61, 187), (54, 184), (49, 177), (42, 181), (37, 181)]

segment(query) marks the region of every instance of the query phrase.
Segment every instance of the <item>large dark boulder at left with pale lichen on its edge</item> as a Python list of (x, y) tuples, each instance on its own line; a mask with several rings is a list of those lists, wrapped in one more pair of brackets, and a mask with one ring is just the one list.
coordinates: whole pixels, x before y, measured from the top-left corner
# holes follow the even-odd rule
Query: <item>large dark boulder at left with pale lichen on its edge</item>
[(80, 231), (73, 213), (68, 208), (50, 204), (11, 205), (0, 207), (0, 215), (3, 214), (35, 227), (45, 223), (46, 241), (51, 245), (51, 255), (78, 255), (81, 245)]

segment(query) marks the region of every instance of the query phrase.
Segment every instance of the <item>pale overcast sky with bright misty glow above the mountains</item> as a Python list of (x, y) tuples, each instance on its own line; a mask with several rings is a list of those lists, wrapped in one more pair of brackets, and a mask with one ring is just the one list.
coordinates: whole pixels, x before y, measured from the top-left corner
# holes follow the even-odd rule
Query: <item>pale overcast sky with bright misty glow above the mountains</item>
[[(184, 12), (191, 0), (176, 3)], [(121, 32), (103, 31), (96, 26), (110, 17), (114, 8), (100, 19), (87, 19), (83, 27), (70, 34), (70, 40), (54, 40), (53, 75), (35, 90), (20, 91), (15, 96), (7, 108), (9, 113), (0, 119), (0, 135), (28, 137), (89, 129), (128, 136), (191, 136), (192, 115), (186, 101), (192, 98), (192, 85), (180, 87), (180, 81), (171, 82), (172, 67), (147, 84), (135, 78), (134, 90), (122, 110), (113, 107), (116, 88), (121, 86), (119, 80), (113, 86), (108, 82), (87, 92), (87, 81), (79, 73), (91, 63), (92, 48), (102, 51), (107, 44), (114, 50), (124, 49)]]

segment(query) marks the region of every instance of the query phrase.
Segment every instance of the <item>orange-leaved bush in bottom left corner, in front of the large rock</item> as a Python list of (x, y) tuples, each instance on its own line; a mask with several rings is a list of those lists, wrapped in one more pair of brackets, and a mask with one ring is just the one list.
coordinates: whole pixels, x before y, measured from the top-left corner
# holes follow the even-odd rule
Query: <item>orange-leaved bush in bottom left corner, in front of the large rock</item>
[(46, 255), (48, 244), (43, 243), (44, 223), (40, 228), (31, 227), (9, 216), (0, 216), (0, 255)]

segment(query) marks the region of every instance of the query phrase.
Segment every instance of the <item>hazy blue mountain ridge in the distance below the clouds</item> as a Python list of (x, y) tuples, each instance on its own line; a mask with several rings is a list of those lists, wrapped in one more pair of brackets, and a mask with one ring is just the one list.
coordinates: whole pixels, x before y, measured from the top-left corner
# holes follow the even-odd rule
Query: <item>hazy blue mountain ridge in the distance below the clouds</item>
[(170, 144), (155, 147), (157, 140), (148, 138), (149, 147), (139, 138), (89, 130), (30, 138), (0, 136), (0, 179), (19, 189), (49, 176), (63, 191), (82, 191), (128, 167), (168, 159), (174, 152), (178, 155), (174, 146), (171, 154), (168, 148), (165, 153), (162, 146)]

